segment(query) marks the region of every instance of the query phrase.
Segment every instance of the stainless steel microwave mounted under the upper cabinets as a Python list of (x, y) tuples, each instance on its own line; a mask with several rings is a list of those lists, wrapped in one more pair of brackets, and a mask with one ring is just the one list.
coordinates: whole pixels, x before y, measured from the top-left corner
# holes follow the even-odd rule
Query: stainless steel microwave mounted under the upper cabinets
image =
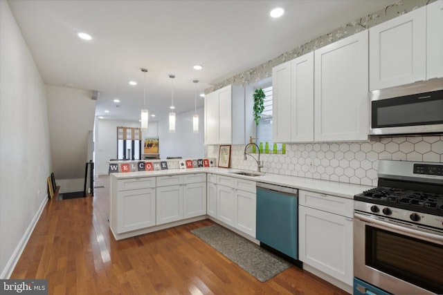
[(443, 134), (443, 78), (370, 91), (370, 135)]

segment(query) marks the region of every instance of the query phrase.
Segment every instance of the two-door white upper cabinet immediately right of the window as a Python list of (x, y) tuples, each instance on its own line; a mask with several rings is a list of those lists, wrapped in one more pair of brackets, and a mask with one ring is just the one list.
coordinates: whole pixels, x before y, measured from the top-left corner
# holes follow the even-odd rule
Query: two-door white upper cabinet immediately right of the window
[(272, 70), (273, 141), (314, 141), (314, 53)]

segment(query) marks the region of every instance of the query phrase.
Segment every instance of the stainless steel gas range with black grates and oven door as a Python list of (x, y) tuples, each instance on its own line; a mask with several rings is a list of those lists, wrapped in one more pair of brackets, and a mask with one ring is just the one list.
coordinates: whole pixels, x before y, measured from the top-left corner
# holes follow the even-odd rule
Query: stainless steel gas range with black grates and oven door
[(354, 196), (354, 295), (443, 294), (443, 163), (381, 160), (377, 173)]

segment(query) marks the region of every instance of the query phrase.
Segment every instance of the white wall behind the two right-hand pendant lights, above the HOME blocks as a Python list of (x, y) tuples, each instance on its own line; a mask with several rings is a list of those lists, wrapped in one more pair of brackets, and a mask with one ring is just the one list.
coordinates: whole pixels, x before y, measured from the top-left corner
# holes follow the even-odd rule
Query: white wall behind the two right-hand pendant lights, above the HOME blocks
[(169, 121), (159, 122), (160, 157), (204, 158), (204, 108), (197, 108), (199, 133), (192, 132), (195, 111), (176, 114), (175, 133), (169, 133)]

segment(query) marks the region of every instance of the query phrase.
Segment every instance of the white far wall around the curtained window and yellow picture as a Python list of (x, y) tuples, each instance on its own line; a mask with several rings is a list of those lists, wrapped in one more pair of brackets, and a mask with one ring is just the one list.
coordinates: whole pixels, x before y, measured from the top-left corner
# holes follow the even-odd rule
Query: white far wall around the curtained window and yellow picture
[[(107, 174), (109, 159), (117, 158), (117, 127), (140, 127), (138, 121), (96, 120), (96, 150), (95, 173)], [(149, 122), (147, 131), (142, 131), (143, 137), (157, 137), (157, 122)]]

